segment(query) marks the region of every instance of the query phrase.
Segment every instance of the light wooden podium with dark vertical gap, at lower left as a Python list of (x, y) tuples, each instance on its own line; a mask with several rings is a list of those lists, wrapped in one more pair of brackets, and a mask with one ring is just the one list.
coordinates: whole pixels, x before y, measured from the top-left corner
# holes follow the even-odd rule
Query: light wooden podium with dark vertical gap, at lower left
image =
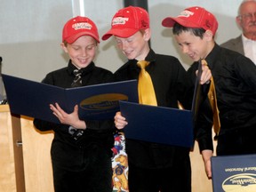
[(37, 132), (33, 119), (0, 105), (0, 191), (53, 192), (52, 132)]

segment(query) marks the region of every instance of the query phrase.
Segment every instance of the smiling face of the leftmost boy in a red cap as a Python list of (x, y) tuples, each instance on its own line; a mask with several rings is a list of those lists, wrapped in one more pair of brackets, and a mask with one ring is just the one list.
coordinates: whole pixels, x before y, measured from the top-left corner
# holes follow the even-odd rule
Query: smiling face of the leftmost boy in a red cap
[(73, 44), (61, 45), (63, 50), (68, 53), (72, 64), (78, 69), (86, 68), (97, 52), (97, 43), (92, 36), (81, 36)]

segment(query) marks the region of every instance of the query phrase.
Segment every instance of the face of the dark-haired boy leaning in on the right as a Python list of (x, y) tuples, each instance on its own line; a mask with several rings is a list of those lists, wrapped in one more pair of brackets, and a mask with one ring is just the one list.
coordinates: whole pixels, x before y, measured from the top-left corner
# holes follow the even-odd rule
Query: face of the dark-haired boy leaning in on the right
[(200, 38), (192, 32), (183, 31), (179, 36), (176, 35), (175, 39), (180, 46), (181, 52), (187, 54), (194, 61), (204, 59), (212, 51), (212, 39), (206, 36)]

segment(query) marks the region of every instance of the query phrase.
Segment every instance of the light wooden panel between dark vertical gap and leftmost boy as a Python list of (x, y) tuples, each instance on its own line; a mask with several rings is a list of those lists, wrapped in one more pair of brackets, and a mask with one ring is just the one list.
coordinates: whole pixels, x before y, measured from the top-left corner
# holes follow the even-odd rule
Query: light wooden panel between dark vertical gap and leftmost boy
[(38, 132), (33, 119), (21, 118), (26, 192), (53, 192), (52, 132)]

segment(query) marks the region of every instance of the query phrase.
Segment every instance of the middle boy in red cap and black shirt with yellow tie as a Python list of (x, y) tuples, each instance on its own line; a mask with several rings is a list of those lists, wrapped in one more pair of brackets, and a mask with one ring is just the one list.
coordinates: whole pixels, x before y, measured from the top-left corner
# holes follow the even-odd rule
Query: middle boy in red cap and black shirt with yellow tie
[[(179, 100), (185, 108), (191, 108), (194, 87), (180, 61), (172, 56), (157, 54), (149, 47), (151, 30), (148, 12), (134, 6), (119, 10), (112, 19), (111, 29), (102, 39), (107, 40), (110, 36), (115, 37), (117, 47), (128, 59), (115, 72), (116, 81), (138, 79), (140, 68), (137, 62), (147, 60), (149, 64), (146, 70), (154, 85), (157, 106), (178, 108)], [(201, 83), (208, 81), (210, 76), (211, 71), (204, 67)], [(116, 113), (115, 124), (117, 129), (123, 129), (127, 124), (120, 112)], [(127, 139), (130, 191), (190, 192), (189, 150), (190, 148)]]

